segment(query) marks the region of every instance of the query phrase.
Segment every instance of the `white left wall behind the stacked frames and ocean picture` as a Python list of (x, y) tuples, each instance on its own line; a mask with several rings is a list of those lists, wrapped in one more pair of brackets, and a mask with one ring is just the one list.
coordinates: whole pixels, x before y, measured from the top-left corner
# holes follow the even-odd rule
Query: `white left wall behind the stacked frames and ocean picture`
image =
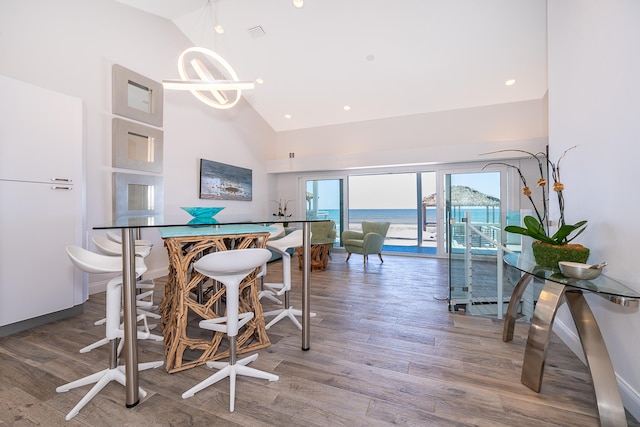
[[(0, 2), (0, 74), (84, 101), (87, 242), (99, 233), (92, 226), (111, 220), (112, 65), (155, 81), (176, 78), (177, 57), (190, 46), (170, 21), (114, 1)], [(188, 92), (165, 91), (163, 131), (166, 213), (178, 212), (179, 206), (207, 205), (267, 212), (264, 160), (272, 156), (275, 132), (246, 102), (230, 111), (214, 110)], [(200, 200), (200, 158), (252, 169), (253, 202)], [(148, 275), (164, 274), (168, 261), (158, 231), (145, 230), (143, 237), (157, 247), (147, 262)], [(90, 287), (103, 283), (102, 277), (90, 278)]]

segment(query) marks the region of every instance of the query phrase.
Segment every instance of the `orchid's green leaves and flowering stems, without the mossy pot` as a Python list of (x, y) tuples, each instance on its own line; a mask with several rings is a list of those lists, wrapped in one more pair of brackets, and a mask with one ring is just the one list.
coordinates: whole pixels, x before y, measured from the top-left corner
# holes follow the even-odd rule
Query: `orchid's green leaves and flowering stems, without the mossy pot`
[[(508, 225), (505, 227), (505, 231), (510, 233), (522, 234), (524, 236), (529, 236), (535, 240), (539, 240), (541, 242), (548, 243), (554, 246), (566, 245), (569, 242), (571, 242), (573, 239), (578, 237), (580, 234), (582, 234), (582, 232), (586, 229), (587, 221), (579, 221), (575, 224), (567, 224), (565, 222), (564, 196), (562, 194), (562, 192), (564, 191), (564, 184), (560, 180), (560, 161), (564, 158), (564, 156), (567, 154), (569, 150), (572, 150), (574, 148), (576, 148), (575, 145), (573, 147), (566, 149), (562, 153), (562, 155), (558, 158), (558, 161), (556, 163), (553, 163), (552, 161), (550, 161), (547, 155), (544, 153), (533, 154), (524, 150), (499, 150), (499, 151), (493, 151), (492, 153), (487, 153), (487, 154), (493, 154), (493, 153), (509, 152), (509, 151), (526, 153), (529, 156), (531, 156), (532, 159), (535, 159), (538, 162), (538, 170), (540, 171), (540, 178), (538, 179), (536, 185), (538, 187), (541, 187), (542, 189), (542, 211), (540, 211), (536, 206), (536, 204), (534, 203), (533, 198), (531, 197), (532, 191), (527, 185), (527, 180), (525, 176), (522, 174), (522, 171), (520, 170), (520, 168), (507, 163), (503, 163), (503, 162), (493, 162), (486, 165), (486, 166), (489, 166), (489, 165), (500, 164), (500, 165), (505, 165), (515, 169), (518, 172), (518, 175), (520, 176), (520, 181), (522, 181), (522, 185), (523, 185), (522, 194), (524, 194), (529, 199), (536, 213), (535, 217), (531, 215), (527, 215), (523, 218), (522, 222), (524, 224), (524, 227), (521, 227), (519, 225)], [(550, 171), (551, 179), (553, 180), (553, 187), (551, 189), (548, 189), (547, 179), (545, 178), (545, 174), (544, 174), (545, 167), (548, 167)], [(550, 234), (549, 232), (549, 209), (548, 209), (549, 196), (548, 195), (551, 190), (553, 190), (556, 193), (556, 196), (558, 198), (558, 207), (560, 209), (560, 218), (558, 219), (558, 230), (553, 234)]]

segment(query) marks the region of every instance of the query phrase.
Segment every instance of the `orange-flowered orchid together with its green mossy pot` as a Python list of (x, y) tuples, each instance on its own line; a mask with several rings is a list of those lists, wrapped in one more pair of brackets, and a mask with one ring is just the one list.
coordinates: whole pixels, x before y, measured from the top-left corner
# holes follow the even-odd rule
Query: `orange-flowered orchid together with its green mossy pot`
[[(537, 185), (542, 189), (542, 212), (538, 209), (531, 197), (531, 189), (527, 185), (525, 176), (520, 171), (520, 168), (509, 165), (507, 163), (490, 163), (490, 164), (502, 164), (511, 168), (514, 168), (520, 180), (522, 181), (522, 193), (529, 199), (536, 216), (527, 215), (523, 218), (522, 223), (524, 227), (519, 225), (508, 225), (505, 227), (505, 231), (509, 233), (521, 234), (523, 236), (529, 236), (534, 239), (532, 249), (533, 256), (536, 259), (536, 263), (543, 267), (558, 268), (559, 261), (574, 261), (574, 262), (586, 262), (589, 258), (589, 249), (575, 243), (570, 243), (576, 237), (578, 237), (587, 227), (587, 221), (579, 221), (575, 224), (567, 224), (564, 220), (564, 184), (560, 180), (560, 161), (567, 154), (569, 150), (574, 149), (576, 146), (566, 149), (558, 161), (553, 163), (550, 161), (546, 154), (537, 153), (533, 154), (523, 150), (500, 150), (494, 151), (518, 151), (526, 153), (531, 158), (537, 160), (538, 169), (540, 171), (540, 178)], [(490, 154), (490, 153), (489, 153)], [(488, 166), (488, 165), (487, 165)], [(547, 180), (544, 176), (544, 168), (548, 167), (550, 171), (551, 179), (553, 180), (553, 187), (547, 190)], [(551, 234), (549, 230), (549, 210), (548, 210), (548, 194), (551, 191), (556, 193), (558, 199), (558, 207), (560, 210), (560, 217), (558, 219), (558, 229), (555, 233)]]

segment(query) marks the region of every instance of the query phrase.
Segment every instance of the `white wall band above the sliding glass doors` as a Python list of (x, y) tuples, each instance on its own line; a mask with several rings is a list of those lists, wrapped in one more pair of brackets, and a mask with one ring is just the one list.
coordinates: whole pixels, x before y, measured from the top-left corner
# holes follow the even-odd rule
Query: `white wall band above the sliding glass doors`
[[(541, 96), (544, 94), (541, 94)], [(269, 172), (482, 160), (546, 144), (547, 99), (280, 132)], [(534, 151), (535, 152), (535, 151)], [(289, 153), (295, 153), (293, 160)]]

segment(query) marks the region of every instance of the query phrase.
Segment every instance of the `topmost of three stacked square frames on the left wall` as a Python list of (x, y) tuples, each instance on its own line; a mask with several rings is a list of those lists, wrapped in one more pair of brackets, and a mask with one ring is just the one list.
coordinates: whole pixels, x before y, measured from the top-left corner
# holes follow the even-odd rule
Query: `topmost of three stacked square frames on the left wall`
[(111, 75), (113, 114), (162, 127), (162, 84), (118, 64), (113, 64)]

